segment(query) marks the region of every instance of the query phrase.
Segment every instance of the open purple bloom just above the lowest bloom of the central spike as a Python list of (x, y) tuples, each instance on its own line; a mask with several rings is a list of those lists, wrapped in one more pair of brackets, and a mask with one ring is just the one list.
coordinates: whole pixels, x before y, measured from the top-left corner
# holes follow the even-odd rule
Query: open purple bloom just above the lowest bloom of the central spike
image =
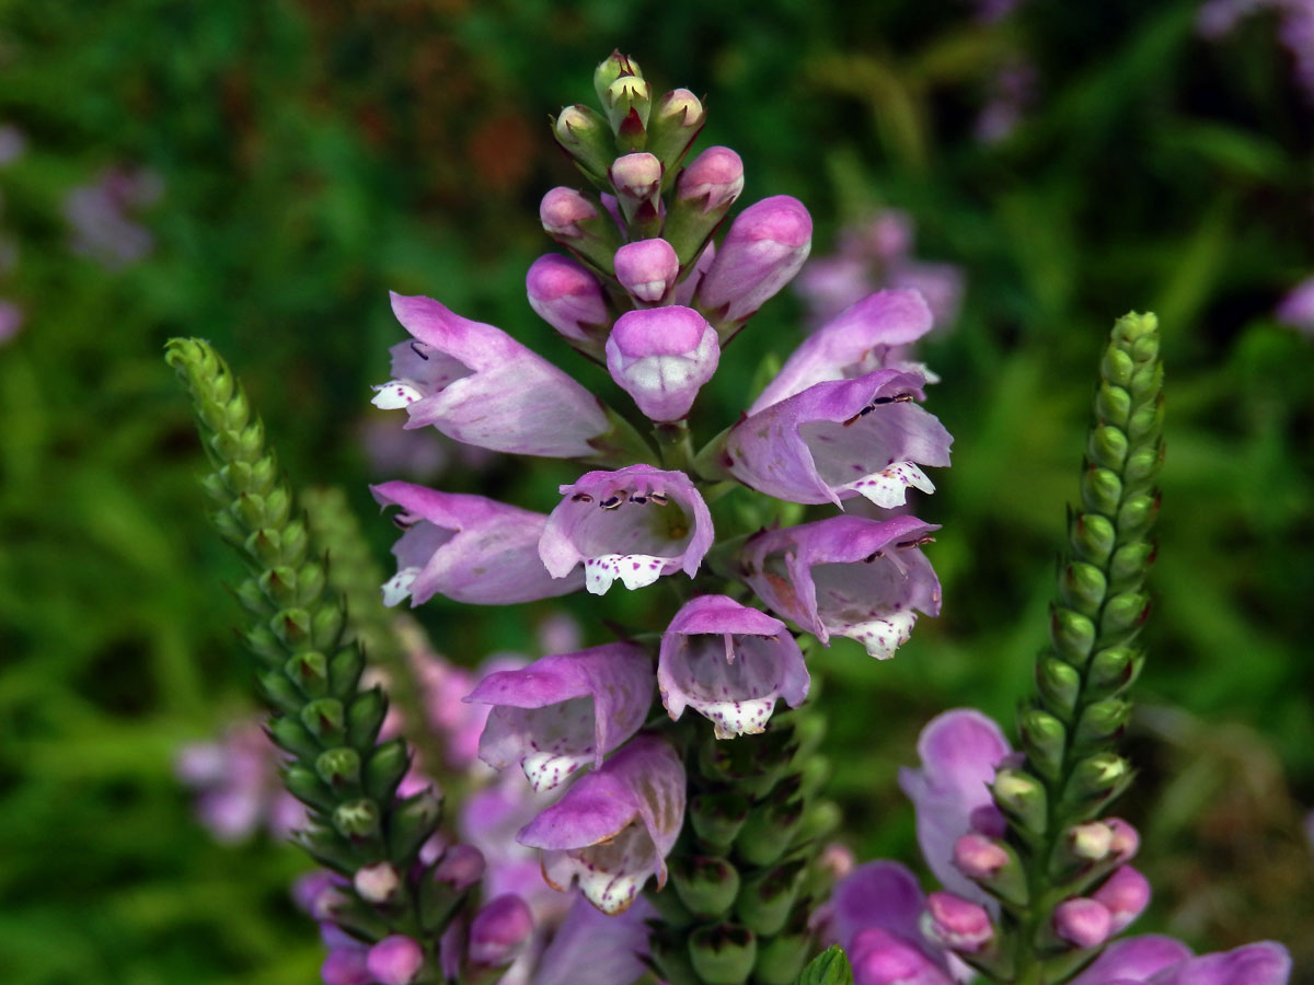
[(535, 791), (549, 791), (639, 732), (652, 704), (644, 647), (607, 644), (553, 654), (522, 670), (489, 674), (465, 699), (494, 705), (480, 758), (519, 763)]

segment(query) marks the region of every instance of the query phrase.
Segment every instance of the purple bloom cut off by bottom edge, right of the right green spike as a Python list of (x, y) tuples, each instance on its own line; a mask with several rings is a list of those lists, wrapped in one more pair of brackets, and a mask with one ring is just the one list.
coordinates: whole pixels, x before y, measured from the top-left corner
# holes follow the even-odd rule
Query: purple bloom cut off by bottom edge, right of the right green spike
[(1272, 942), (1192, 957), (1172, 938), (1147, 935), (1112, 944), (1071, 985), (1286, 985), (1292, 959)]

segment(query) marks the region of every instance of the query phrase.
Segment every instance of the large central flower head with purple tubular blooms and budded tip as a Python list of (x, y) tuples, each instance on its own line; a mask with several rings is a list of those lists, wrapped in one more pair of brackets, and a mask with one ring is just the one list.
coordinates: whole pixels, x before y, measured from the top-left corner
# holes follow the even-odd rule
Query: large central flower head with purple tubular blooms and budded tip
[[(803, 265), (812, 221), (796, 200), (774, 196), (719, 235), (744, 167), (727, 147), (685, 163), (704, 122), (700, 101), (686, 89), (654, 97), (619, 54), (595, 84), (603, 113), (568, 106), (555, 121), (594, 188), (544, 196), (543, 226), (566, 252), (540, 257), (526, 289), (530, 306), (633, 406), (604, 405), (501, 328), (393, 296), (411, 338), (393, 347), (393, 378), (376, 387), (376, 406), (405, 410), (407, 428), (576, 460), (581, 471), (549, 514), (409, 482), (373, 491), (403, 531), (388, 604), (444, 595), (502, 605), (677, 579), (685, 602), (660, 645), (622, 638), (549, 653), (487, 674), (466, 699), (490, 708), (480, 756), (556, 797), (518, 842), (541, 851), (549, 884), (578, 885), (615, 914), (649, 879), (665, 881), (685, 820), (686, 749), (650, 721), (654, 697), (670, 718), (692, 709), (729, 739), (766, 730), (778, 699), (798, 707), (807, 696), (794, 630), (892, 655), (918, 612), (938, 613), (940, 584), (922, 554), (936, 527), (883, 511), (904, 512), (909, 489), (934, 491), (926, 469), (949, 465), (951, 437), (921, 406), (924, 368), (897, 357), (930, 328), (930, 309), (916, 290), (886, 290), (828, 319), (695, 456), (699, 391)], [(652, 444), (631, 423), (640, 419)], [(756, 496), (766, 525), (714, 529), (712, 486)], [(833, 510), (863, 499), (878, 519), (769, 523), (773, 500)]]

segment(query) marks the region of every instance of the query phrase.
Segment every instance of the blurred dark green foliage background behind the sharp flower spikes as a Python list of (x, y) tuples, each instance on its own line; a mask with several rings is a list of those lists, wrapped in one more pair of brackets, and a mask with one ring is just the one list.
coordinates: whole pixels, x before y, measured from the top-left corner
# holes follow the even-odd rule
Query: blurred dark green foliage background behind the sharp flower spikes
[[(317, 980), (286, 892), (306, 863), (264, 835), (217, 844), (173, 776), (180, 743), (254, 703), (223, 590), (240, 571), (204, 520), (160, 348), (213, 340), (294, 485), (347, 490), (385, 563), (393, 528), (365, 485), (398, 473), (363, 436), (399, 426), (368, 406), (402, 338), (386, 292), (578, 366), (523, 276), (549, 248), (539, 197), (576, 184), (548, 114), (593, 101), (612, 47), (658, 92), (707, 95), (700, 146), (742, 155), (742, 201), (803, 198), (813, 256), (897, 208), (917, 256), (966, 276), (961, 315), (925, 347), (943, 377), (930, 407), (957, 437), (920, 510), (945, 524), (943, 616), (892, 662), (837, 644), (813, 666), (850, 843), (915, 858), (895, 771), (926, 718), (971, 703), (1010, 720), (1045, 642), (1095, 361), (1116, 315), (1151, 309), (1168, 457), (1142, 779), (1121, 805), (1156, 888), (1139, 929), (1200, 948), (1280, 939), (1314, 981), (1314, 352), (1272, 317), (1314, 272), (1314, 105), (1275, 17), (1214, 42), (1196, 8), (1030, 0), (983, 22), (966, 0), (0, 5), (0, 126), (26, 139), (0, 169), (17, 248), (0, 298), (25, 313), (0, 347), (7, 982)], [(1016, 127), (982, 139), (1017, 66), (1031, 80)], [(138, 234), (101, 213), (101, 239), (72, 231), (106, 196)], [(728, 351), (735, 377), (786, 355), (802, 315), (786, 292), (754, 318), (761, 348)], [(741, 397), (723, 386), (707, 419), (733, 420)], [(445, 454), (436, 483), (533, 508), (573, 478)], [(641, 620), (637, 598), (608, 605)], [(600, 638), (590, 603), (564, 607)], [(532, 651), (557, 608), (419, 615), (473, 666)]]

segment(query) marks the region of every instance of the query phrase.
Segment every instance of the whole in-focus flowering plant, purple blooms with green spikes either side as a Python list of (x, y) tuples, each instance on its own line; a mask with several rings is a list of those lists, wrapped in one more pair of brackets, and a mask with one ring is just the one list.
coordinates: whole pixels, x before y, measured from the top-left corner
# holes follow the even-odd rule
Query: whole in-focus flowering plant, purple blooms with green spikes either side
[[(891, 658), (940, 613), (925, 552), (938, 525), (911, 512), (953, 441), (924, 406), (934, 377), (909, 359), (932, 311), (915, 289), (863, 297), (738, 420), (704, 420), (702, 389), (802, 268), (812, 222), (788, 196), (731, 218), (744, 167), (725, 147), (686, 163), (706, 120), (691, 92), (654, 97), (619, 54), (594, 83), (602, 112), (568, 106), (553, 122), (591, 188), (544, 197), (543, 226), (568, 255), (536, 261), (526, 288), (606, 368), (615, 399), (501, 328), (393, 296), (411, 338), (392, 348), (377, 407), (493, 452), (568, 460), (577, 477), (548, 514), (376, 486), (402, 531), (382, 602), (506, 605), (661, 582), (662, 624), (549, 645), (477, 680), (434, 678), (413, 626), (343, 603), (369, 580), (336, 567), (350, 524), (302, 519), (222, 360), (170, 343), (215, 466), (215, 524), (252, 571), (238, 595), (267, 730), (307, 812), (296, 838), (323, 867), (298, 898), (330, 948), (326, 985), (624, 985), (648, 972), (673, 985), (1285, 982), (1276, 944), (1206, 957), (1158, 936), (1110, 944), (1148, 900), (1127, 864), (1137, 833), (1105, 810), (1131, 777), (1118, 739), (1144, 659), (1155, 317), (1120, 319), (1101, 362), (1020, 750), (984, 716), (947, 712), (901, 776), (943, 888), (924, 896), (890, 862), (848, 871), (825, 850), (836, 810), (811, 768), (824, 700), (807, 658), (836, 637)], [(444, 789), (464, 793), (455, 826)], [(844, 953), (816, 956), (830, 942)]]

